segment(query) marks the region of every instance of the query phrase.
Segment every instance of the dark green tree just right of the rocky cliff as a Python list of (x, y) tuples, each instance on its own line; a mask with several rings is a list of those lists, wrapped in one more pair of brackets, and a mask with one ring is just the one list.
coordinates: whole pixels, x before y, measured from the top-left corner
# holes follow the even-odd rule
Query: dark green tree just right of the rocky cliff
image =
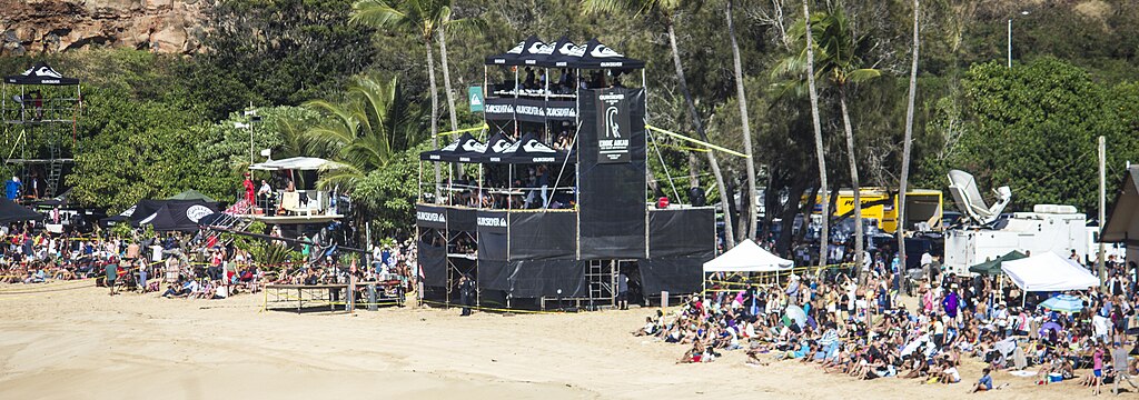
[(296, 106), (336, 92), (371, 65), (368, 26), (349, 23), (351, 0), (223, 0), (208, 50), (185, 72), (207, 118), (255, 105)]

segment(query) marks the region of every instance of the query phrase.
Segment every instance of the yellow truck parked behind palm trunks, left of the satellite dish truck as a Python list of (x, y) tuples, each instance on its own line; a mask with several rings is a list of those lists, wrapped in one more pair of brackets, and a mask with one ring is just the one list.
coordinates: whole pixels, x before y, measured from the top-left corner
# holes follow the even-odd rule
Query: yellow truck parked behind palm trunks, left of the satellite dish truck
[[(885, 233), (894, 233), (898, 228), (896, 191), (884, 188), (862, 188), (862, 218), (875, 218), (878, 228)], [(941, 231), (943, 195), (940, 190), (915, 189), (906, 193), (906, 220), (910, 230), (918, 224), (925, 224), (927, 230)], [(821, 207), (816, 207), (816, 210)], [(854, 215), (854, 191), (838, 191), (835, 216)]]

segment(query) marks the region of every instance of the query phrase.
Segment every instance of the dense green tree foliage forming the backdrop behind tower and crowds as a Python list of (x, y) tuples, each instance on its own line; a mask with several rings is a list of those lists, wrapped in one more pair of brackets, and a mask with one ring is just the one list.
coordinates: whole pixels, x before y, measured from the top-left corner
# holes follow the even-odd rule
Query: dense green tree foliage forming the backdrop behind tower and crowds
[[(648, 61), (652, 123), (691, 132), (663, 28), (667, 23), (675, 30), (686, 78), (710, 138), (738, 148), (739, 108), (723, 6), (723, 1), (700, 1), (669, 14), (630, 18), (620, 13), (584, 15), (573, 0), (452, 1), (450, 18), (482, 23), (476, 30), (446, 32), (452, 90), (462, 99), (468, 86), (483, 84), (483, 57), (528, 34), (579, 41), (596, 36)], [(849, 34), (859, 41), (858, 68), (880, 72), (845, 94), (862, 184), (896, 188), (910, 3), (819, 1), (812, 7), (820, 13), (842, 8)], [(923, 7), (911, 186), (943, 189), (947, 169), (960, 168), (974, 173), (983, 188), (1011, 186), (1015, 209), (1056, 202), (1093, 213), (1096, 136), (1107, 136), (1113, 176), (1126, 160), (1139, 159), (1139, 84), (1132, 82), (1139, 76), (1134, 63), (1139, 6), (936, 0)], [(757, 185), (768, 188), (769, 194), (761, 199), (765, 219), (790, 220), (806, 206), (787, 200), (804, 198), (818, 184), (813, 133), (806, 100), (781, 95), (779, 88), (786, 82), (778, 74), (773, 77), (772, 70), (802, 51), (793, 34), (802, 7), (773, 0), (738, 2), (736, 8), (753, 161), (760, 172)], [(251, 106), (264, 116), (254, 127), (256, 149), (271, 148), (282, 157), (346, 159), (352, 151), (345, 148), (363, 144), (367, 135), (314, 145), (311, 128), (329, 126), (336, 113), (314, 107), (319, 103), (304, 105), (323, 100), (353, 108), (355, 103), (366, 111), (358, 123), (376, 120), (378, 109), (368, 110), (353, 85), (359, 86), (361, 78), (398, 85), (387, 89), (398, 90), (408, 115), (398, 126), (385, 126), (388, 136), (374, 143), (394, 145), (382, 158), (360, 163), (352, 176), (358, 205), (375, 220), (372, 226), (394, 231), (409, 223), (418, 173), (413, 152), (429, 138), (426, 49), (424, 38), (408, 32), (351, 23), (352, 10), (347, 0), (223, 0), (208, 22), (210, 50), (203, 55), (96, 50), (6, 58), (0, 59), (0, 73), (46, 58), (84, 80), (77, 164), (67, 184), (75, 188), (75, 199), (113, 209), (188, 188), (232, 199), (248, 163), (249, 140), (248, 131), (235, 128), (233, 123), (246, 120), (241, 111)], [(1030, 14), (1021, 15), (1022, 10)], [(1015, 17), (1011, 69), (1005, 65), (1010, 17)], [(440, 57), (437, 48), (434, 57)], [(441, 64), (435, 66), (441, 80)], [(838, 95), (837, 90), (823, 90), (820, 99), (831, 188), (850, 185)], [(439, 102), (440, 123), (446, 120), (446, 107)], [(478, 122), (464, 101), (458, 108), (460, 126)], [(11, 136), (10, 131), (6, 134)], [(659, 158), (683, 195), (689, 169), (685, 144), (662, 144)], [(723, 158), (729, 194), (746, 188), (746, 161)], [(661, 190), (671, 192), (661, 163), (652, 164)], [(700, 184), (714, 192), (707, 165), (697, 167)], [(1109, 178), (1109, 191), (1115, 181)]]

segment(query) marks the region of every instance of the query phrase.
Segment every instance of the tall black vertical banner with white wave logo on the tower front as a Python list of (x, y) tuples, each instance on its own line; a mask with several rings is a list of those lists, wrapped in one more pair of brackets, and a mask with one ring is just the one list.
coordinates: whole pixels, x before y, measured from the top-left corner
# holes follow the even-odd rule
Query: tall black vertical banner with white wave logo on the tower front
[[(599, 158), (596, 123), (598, 92), (583, 90), (579, 97), (582, 125), (579, 133), (577, 170), (581, 189), (581, 259), (645, 258), (648, 235), (645, 182), (645, 90), (606, 89), (621, 93), (629, 107), (629, 163), (605, 164)], [(622, 132), (622, 136), (625, 133)]]

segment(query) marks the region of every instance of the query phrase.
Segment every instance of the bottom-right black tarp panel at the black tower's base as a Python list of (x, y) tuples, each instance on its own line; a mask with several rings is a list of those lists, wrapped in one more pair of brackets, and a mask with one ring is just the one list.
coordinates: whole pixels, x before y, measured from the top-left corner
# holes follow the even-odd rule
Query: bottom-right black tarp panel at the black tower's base
[(671, 294), (697, 293), (703, 289), (704, 262), (712, 258), (713, 253), (707, 252), (639, 260), (642, 292), (645, 295), (657, 295), (661, 291)]

